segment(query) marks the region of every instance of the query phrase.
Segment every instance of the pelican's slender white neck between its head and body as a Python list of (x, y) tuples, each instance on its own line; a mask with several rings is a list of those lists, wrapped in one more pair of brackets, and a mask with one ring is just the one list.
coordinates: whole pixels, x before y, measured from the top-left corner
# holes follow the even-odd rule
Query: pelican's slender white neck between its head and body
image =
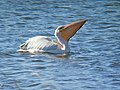
[(65, 41), (62, 37), (61, 37), (61, 34), (58, 33), (57, 35), (55, 35), (58, 43), (62, 46), (62, 50), (69, 50), (69, 46), (68, 46), (68, 42)]

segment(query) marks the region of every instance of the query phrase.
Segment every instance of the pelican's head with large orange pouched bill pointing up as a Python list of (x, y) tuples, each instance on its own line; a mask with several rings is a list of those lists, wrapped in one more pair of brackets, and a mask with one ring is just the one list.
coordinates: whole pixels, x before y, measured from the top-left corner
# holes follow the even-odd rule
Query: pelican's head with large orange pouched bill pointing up
[(58, 26), (55, 34), (61, 34), (61, 37), (68, 42), (70, 38), (73, 37), (75, 33), (85, 24), (85, 22), (86, 20), (80, 20), (64, 26)]

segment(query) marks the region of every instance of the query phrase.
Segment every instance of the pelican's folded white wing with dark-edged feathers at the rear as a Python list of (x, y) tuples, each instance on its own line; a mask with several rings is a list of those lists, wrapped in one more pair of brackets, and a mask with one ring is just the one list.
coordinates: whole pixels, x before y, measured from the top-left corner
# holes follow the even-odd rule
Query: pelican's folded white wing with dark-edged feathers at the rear
[(58, 44), (46, 36), (36, 36), (28, 39), (25, 43), (19, 46), (22, 50), (39, 49), (39, 50), (55, 50)]

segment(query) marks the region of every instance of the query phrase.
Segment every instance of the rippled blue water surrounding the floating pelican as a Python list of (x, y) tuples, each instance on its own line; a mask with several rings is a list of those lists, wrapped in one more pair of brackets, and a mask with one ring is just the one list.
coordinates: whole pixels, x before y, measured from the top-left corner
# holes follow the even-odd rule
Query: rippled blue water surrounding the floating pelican
[[(17, 52), (79, 19), (68, 56)], [(120, 90), (120, 1), (1, 0), (0, 90)]]

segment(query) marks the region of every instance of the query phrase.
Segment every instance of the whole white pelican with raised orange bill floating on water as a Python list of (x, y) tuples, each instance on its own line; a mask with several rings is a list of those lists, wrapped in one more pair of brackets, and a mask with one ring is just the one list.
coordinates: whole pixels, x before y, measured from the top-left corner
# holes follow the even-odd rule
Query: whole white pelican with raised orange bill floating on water
[(84, 25), (86, 20), (79, 20), (67, 25), (58, 26), (55, 30), (56, 40), (52, 40), (47, 36), (35, 36), (29, 38), (25, 43), (19, 46), (19, 52), (28, 53), (69, 53), (70, 48), (68, 42), (71, 37)]

